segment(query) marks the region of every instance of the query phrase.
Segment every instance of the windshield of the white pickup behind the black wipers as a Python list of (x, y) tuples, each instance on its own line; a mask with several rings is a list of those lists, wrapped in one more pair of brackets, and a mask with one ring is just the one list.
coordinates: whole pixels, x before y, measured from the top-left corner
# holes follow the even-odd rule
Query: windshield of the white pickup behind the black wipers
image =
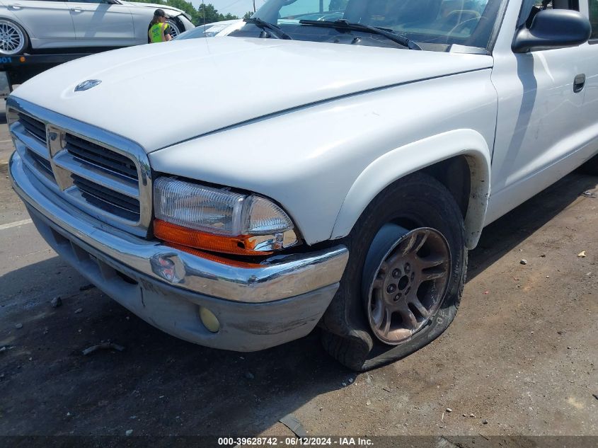
[[(404, 48), (364, 30), (347, 31), (300, 22), (342, 19), (391, 30), (417, 42), (423, 50), (448, 51), (451, 45), (488, 47), (503, 1), (268, 0), (253, 17), (278, 25), (294, 40)], [(260, 32), (248, 24), (232, 35), (258, 37)]]

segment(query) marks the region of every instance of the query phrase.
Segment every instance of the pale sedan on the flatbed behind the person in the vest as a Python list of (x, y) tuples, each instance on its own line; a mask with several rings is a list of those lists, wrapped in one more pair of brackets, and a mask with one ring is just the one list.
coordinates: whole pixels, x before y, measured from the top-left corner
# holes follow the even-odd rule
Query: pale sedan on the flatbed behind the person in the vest
[(0, 54), (147, 43), (147, 27), (162, 8), (172, 36), (194, 28), (171, 6), (122, 0), (0, 0)]

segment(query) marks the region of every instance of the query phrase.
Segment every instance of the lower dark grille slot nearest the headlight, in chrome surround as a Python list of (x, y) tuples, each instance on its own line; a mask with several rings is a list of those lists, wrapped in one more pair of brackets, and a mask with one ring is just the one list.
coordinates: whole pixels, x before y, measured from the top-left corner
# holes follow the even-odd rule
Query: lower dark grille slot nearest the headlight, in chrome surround
[(139, 200), (117, 193), (76, 174), (71, 174), (71, 179), (74, 185), (79, 188), (81, 196), (89, 204), (130, 221), (139, 220)]

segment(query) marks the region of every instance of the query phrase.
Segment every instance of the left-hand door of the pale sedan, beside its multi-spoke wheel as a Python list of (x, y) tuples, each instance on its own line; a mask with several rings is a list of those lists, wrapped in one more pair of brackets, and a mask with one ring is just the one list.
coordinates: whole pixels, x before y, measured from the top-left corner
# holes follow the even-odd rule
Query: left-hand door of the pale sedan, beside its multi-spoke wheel
[(34, 48), (43, 48), (45, 43), (55, 43), (57, 40), (75, 38), (73, 20), (66, 1), (4, 0), (2, 3), (27, 30), (32, 41), (40, 40), (32, 42)]

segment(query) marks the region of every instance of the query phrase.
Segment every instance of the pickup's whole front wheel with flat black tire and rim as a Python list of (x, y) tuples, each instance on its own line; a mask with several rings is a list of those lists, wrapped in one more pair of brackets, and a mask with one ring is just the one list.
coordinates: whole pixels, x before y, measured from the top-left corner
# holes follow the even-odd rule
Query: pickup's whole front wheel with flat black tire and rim
[(380, 193), (345, 241), (350, 258), (323, 346), (350, 369), (392, 362), (437, 338), (459, 308), (467, 270), (461, 209), (415, 173)]

